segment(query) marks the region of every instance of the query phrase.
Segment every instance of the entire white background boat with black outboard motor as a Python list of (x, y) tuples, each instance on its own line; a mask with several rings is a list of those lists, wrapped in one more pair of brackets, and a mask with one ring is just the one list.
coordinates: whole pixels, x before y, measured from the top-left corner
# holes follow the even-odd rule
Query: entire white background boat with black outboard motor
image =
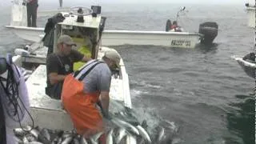
[[(41, 41), (45, 34), (42, 27), (27, 27), (26, 6), (21, 0), (14, 0), (10, 26), (6, 26), (6, 28), (13, 30), (18, 37), (31, 42)], [(211, 44), (217, 34), (218, 25), (216, 22), (201, 24), (198, 33), (186, 31), (104, 30), (102, 32), (102, 45), (118, 46), (128, 44), (194, 48), (200, 43)]]

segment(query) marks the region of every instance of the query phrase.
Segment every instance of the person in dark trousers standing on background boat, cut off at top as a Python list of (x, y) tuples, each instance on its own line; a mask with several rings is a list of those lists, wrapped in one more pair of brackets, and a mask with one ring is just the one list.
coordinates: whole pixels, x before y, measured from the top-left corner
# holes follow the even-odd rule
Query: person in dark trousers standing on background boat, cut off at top
[(27, 0), (27, 26), (37, 27), (38, 0)]

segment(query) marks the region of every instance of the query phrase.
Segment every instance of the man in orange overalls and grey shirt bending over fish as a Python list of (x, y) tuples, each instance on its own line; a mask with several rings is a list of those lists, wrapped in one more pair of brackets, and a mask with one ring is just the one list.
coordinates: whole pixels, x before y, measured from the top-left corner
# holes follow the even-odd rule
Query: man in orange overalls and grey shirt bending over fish
[[(102, 115), (110, 118), (111, 71), (120, 68), (120, 55), (116, 50), (107, 50), (102, 61), (90, 60), (81, 70), (66, 76), (62, 88), (62, 104), (70, 114), (78, 134), (90, 138), (104, 130)], [(100, 97), (100, 98), (99, 98)], [(106, 135), (100, 141), (105, 143)]]

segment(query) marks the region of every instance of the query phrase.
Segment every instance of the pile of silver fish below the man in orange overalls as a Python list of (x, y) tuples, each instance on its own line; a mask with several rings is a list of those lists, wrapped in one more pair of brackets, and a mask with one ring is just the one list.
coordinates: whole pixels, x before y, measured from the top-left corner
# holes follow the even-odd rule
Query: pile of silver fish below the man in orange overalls
[[(124, 118), (124, 114), (113, 115), (108, 122), (106, 132), (100, 132), (90, 138), (83, 138), (76, 134), (74, 130), (48, 130), (36, 126), (25, 126), (14, 129), (15, 139), (20, 144), (98, 144), (102, 134), (106, 135), (106, 144), (126, 144), (126, 138), (134, 139), (134, 142), (129, 144), (172, 144), (173, 139), (170, 134), (166, 134), (166, 130), (158, 126), (153, 133), (147, 132), (146, 121), (142, 124), (136, 121), (132, 116)], [(126, 120), (124, 120), (126, 119)]]

